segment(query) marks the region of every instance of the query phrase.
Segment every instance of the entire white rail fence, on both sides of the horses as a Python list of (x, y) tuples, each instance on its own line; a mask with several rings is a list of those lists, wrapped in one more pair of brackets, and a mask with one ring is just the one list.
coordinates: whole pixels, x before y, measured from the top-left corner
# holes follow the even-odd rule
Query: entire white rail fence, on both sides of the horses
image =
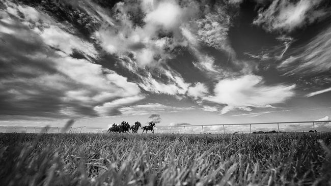
[[(309, 130), (313, 130), (315, 132), (315, 125), (318, 125), (319, 127), (323, 126), (324, 131), (331, 132), (329, 122), (331, 122), (331, 120), (156, 126), (154, 128), (154, 132), (158, 134), (171, 134), (171, 133), (184, 133), (184, 134), (185, 133), (187, 134), (224, 133), (225, 134), (225, 133), (234, 133), (234, 132), (252, 133), (253, 131), (260, 131), (262, 129), (262, 128), (256, 128), (256, 126), (263, 126), (263, 125), (265, 125), (263, 127), (264, 130), (287, 132), (289, 131), (288, 128), (284, 127), (287, 124), (293, 124), (292, 126), (296, 125), (297, 126), (295, 128), (296, 132), (303, 131), (302, 129), (305, 129), (305, 132), (308, 132)], [(58, 126), (58, 127), (0, 126), (0, 133), (61, 133), (61, 130), (63, 128), (65, 127), (64, 126)], [(107, 130), (102, 128), (89, 128), (86, 126), (73, 126), (70, 127), (66, 133), (107, 133)], [(138, 133), (142, 133), (142, 130), (140, 129)]]

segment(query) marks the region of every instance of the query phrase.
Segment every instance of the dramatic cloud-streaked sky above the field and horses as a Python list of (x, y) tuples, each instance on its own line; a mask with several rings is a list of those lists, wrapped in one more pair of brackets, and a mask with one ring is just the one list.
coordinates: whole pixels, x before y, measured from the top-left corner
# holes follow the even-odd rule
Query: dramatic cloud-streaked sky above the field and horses
[(0, 125), (328, 120), (330, 7), (1, 0)]

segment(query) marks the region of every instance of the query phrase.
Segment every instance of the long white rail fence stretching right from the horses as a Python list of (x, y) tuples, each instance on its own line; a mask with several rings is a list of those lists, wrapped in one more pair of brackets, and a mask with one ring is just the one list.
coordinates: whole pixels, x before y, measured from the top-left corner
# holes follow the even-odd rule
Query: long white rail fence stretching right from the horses
[[(252, 133), (252, 126), (256, 125), (267, 125), (272, 126), (273, 128), (268, 127), (268, 131), (274, 129), (275, 131), (282, 132), (280, 130), (280, 126), (284, 126), (285, 124), (310, 124), (309, 128), (312, 127), (312, 130), (315, 132), (315, 124), (320, 125), (321, 123), (325, 126), (328, 125), (328, 131), (330, 132), (329, 122), (331, 120), (323, 120), (323, 121), (289, 121), (289, 122), (256, 122), (256, 123), (221, 123), (221, 124), (207, 124), (207, 125), (181, 125), (181, 126), (157, 126), (155, 129), (156, 133), (226, 133), (226, 129), (230, 126), (237, 126), (236, 129), (228, 130), (228, 132), (246, 132)], [(217, 127), (218, 126), (218, 127)], [(277, 128), (276, 128), (277, 126)], [(210, 128), (214, 127), (214, 128)], [(216, 127), (216, 128), (215, 128)], [(239, 128), (238, 128), (239, 127)], [(249, 130), (247, 129), (249, 127)], [(300, 128), (300, 126), (298, 126)], [(307, 126), (306, 126), (307, 128)], [(174, 129), (178, 129), (175, 131)], [(299, 130), (302, 131), (302, 130)], [(297, 132), (299, 132), (297, 131)], [(266, 131), (265, 131), (266, 132)], [(285, 132), (285, 131), (283, 131)], [(308, 132), (308, 131), (306, 131)]]

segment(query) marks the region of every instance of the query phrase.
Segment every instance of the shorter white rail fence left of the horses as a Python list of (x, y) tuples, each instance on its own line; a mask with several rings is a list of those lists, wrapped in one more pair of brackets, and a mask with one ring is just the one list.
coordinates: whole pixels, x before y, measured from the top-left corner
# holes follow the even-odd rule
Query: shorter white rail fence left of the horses
[[(0, 126), (1, 133), (61, 133), (64, 126), (59, 127), (33, 127), (33, 126)], [(69, 127), (66, 133), (81, 133), (85, 126)]]

